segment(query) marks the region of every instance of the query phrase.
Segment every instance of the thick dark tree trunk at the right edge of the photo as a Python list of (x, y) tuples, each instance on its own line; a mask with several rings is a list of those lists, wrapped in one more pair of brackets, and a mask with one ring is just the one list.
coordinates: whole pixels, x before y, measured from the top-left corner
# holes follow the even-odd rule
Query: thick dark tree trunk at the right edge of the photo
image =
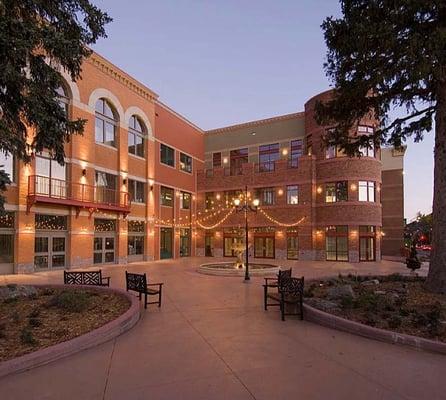
[(427, 288), (446, 293), (446, 81), (440, 83), (435, 114), (432, 253)]

